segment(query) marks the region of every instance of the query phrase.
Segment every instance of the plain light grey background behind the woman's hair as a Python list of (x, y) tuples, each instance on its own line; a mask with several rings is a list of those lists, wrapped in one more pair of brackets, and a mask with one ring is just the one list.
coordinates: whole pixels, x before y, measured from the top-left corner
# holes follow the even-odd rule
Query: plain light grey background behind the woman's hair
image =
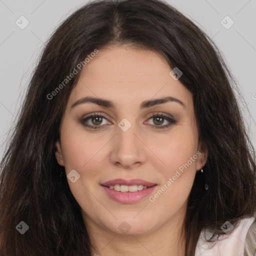
[[(0, 0), (0, 159), (43, 43), (87, 0)], [(222, 52), (239, 84), (241, 105), (256, 147), (256, 0), (167, 0), (202, 28)], [(15, 21), (29, 24), (20, 29)], [(230, 16), (231, 20), (224, 19)], [(225, 24), (222, 24), (223, 22)], [(247, 107), (248, 110), (247, 110)], [(35, 117), (36, 118), (36, 117)]]

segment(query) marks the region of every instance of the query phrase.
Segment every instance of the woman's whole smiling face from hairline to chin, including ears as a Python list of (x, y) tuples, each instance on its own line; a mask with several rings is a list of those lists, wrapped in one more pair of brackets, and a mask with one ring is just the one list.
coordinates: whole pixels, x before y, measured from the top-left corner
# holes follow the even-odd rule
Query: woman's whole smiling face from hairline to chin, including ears
[(142, 235), (183, 220), (206, 153), (192, 94), (170, 71), (158, 53), (127, 46), (99, 50), (82, 69), (55, 155), (87, 227)]

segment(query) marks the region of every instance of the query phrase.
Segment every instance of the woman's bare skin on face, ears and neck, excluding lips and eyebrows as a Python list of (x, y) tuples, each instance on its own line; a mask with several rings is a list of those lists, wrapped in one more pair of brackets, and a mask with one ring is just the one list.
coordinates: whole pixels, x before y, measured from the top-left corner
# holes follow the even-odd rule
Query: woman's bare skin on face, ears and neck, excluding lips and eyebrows
[[(71, 91), (55, 156), (66, 174), (72, 169), (80, 174), (76, 182), (67, 181), (95, 248), (91, 255), (184, 255), (187, 198), (207, 152), (198, 142), (192, 94), (170, 70), (159, 53), (115, 45), (99, 50)], [(71, 108), (85, 96), (111, 100), (116, 107), (87, 102)], [(139, 108), (144, 100), (164, 96), (184, 106), (172, 101)], [(101, 125), (91, 130), (79, 120), (94, 112), (107, 119), (87, 120), (88, 125)], [(176, 122), (157, 129), (169, 122), (150, 118), (153, 113), (172, 115)], [(123, 118), (131, 123), (127, 131), (118, 126)], [(100, 186), (115, 178), (140, 178), (157, 184), (153, 195), (198, 150), (201, 155), (154, 202), (146, 196), (136, 203), (119, 203)], [(125, 234), (118, 228), (123, 221), (130, 226)]]

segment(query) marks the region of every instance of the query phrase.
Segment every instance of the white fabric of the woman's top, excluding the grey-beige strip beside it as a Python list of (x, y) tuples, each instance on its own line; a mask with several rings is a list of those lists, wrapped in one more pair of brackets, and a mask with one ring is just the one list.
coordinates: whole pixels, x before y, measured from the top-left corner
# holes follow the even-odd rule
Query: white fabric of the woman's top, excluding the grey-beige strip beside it
[[(244, 242), (250, 225), (255, 220), (254, 217), (240, 219), (236, 228), (231, 233), (219, 235), (218, 241), (206, 242), (205, 237), (211, 237), (208, 230), (202, 230), (195, 249), (195, 256), (243, 256)], [(232, 226), (227, 223), (224, 227), (231, 230)], [(229, 229), (228, 229), (229, 228)]]

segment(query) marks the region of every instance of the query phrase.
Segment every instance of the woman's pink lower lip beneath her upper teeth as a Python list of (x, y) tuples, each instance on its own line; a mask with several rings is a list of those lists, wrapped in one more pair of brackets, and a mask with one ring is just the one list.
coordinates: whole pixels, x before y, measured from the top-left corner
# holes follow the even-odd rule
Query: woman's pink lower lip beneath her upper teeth
[(138, 190), (136, 192), (119, 192), (115, 191), (114, 189), (110, 189), (107, 186), (102, 187), (104, 188), (108, 196), (113, 200), (121, 203), (134, 203), (149, 195), (154, 190), (156, 185), (147, 187), (142, 190)]

